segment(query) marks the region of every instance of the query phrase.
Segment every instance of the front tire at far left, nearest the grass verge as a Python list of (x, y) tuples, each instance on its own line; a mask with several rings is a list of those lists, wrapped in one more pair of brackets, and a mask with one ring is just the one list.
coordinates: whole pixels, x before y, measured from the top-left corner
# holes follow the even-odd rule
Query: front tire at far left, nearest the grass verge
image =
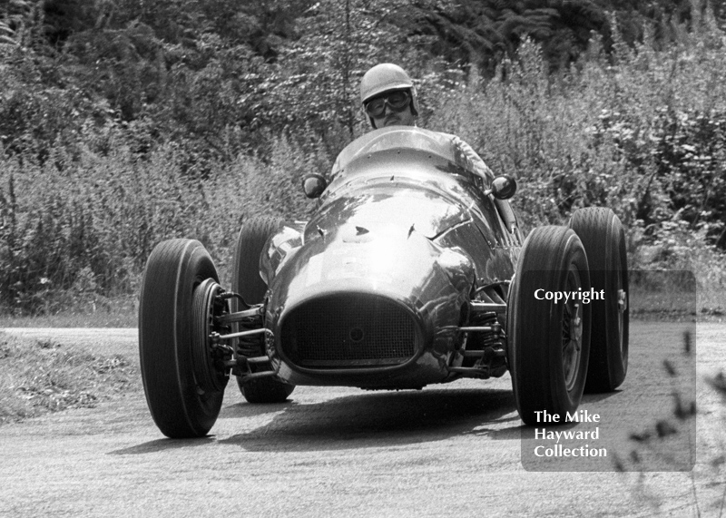
[(143, 388), (154, 423), (168, 437), (207, 435), (220, 414), (226, 379), (210, 372), (218, 388), (201, 388), (195, 358), (204, 354), (200, 347), (206, 342), (194, 322), (200, 286), (217, 281), (214, 263), (199, 241), (163, 241), (146, 263), (139, 307)]

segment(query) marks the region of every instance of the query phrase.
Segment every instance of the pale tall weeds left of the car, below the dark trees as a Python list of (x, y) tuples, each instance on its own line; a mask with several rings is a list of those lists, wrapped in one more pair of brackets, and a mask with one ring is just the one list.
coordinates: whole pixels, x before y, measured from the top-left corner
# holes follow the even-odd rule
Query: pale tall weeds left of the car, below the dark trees
[(146, 160), (123, 145), (77, 159), (54, 150), (43, 164), (1, 159), (0, 303), (54, 312), (69, 293), (82, 304), (128, 293), (163, 239), (199, 239), (226, 275), (243, 220), (309, 211), (299, 178), (325, 157), (284, 138), (272, 148), (269, 161), (240, 154), (203, 179), (184, 171), (173, 144)]

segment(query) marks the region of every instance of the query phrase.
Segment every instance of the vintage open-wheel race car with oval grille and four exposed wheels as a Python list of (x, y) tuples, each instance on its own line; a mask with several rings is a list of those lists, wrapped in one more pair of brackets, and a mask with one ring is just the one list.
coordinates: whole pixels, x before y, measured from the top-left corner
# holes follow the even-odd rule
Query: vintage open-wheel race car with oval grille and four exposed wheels
[(229, 289), (199, 241), (153, 249), (139, 346), (164, 435), (206, 435), (231, 375), (250, 403), (274, 403), (297, 385), (416, 389), (509, 371), (527, 425), (623, 383), (628, 269), (612, 210), (575, 210), (523, 243), (515, 181), (477, 174), (450, 138), (415, 127), (369, 132), (334, 172), (303, 181), (319, 197), (309, 221), (244, 222)]

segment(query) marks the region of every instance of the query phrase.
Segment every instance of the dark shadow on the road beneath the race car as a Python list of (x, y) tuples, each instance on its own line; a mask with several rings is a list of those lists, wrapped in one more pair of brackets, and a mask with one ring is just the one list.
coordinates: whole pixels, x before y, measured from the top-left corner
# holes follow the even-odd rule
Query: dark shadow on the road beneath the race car
[[(280, 406), (276, 406), (280, 410)], [(228, 417), (246, 405), (225, 409)], [(513, 415), (514, 413), (514, 415)], [(248, 451), (315, 451), (410, 445), (455, 435), (499, 434), (515, 422), (510, 390), (428, 389), (417, 392), (343, 396), (310, 405), (290, 405), (270, 423), (221, 439)], [(505, 426), (503, 426), (505, 425)], [(498, 438), (518, 439), (518, 432)]]

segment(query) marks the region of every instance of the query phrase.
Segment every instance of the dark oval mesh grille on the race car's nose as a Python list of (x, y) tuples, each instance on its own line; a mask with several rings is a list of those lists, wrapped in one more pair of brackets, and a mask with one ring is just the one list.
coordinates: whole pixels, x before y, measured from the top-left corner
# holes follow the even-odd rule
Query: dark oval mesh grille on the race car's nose
[(293, 309), (282, 324), (281, 342), (301, 367), (381, 367), (414, 356), (417, 336), (416, 320), (395, 302), (346, 295)]

